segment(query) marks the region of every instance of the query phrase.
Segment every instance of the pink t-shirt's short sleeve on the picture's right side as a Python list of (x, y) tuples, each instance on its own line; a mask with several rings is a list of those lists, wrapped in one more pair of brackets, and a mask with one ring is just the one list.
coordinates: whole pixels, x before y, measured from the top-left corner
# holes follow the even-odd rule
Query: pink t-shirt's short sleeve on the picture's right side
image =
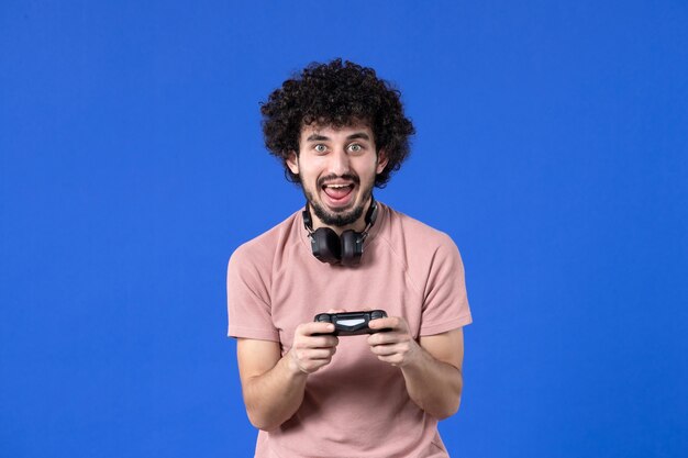
[(452, 238), (442, 234), (425, 283), (420, 335), (441, 334), (471, 322), (464, 264)]

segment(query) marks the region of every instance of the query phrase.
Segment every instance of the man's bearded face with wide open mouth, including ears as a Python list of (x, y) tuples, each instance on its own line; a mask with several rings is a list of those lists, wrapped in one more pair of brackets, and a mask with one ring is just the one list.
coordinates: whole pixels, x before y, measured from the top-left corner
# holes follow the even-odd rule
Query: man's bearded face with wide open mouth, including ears
[(315, 214), (314, 228), (359, 226), (375, 176), (386, 165), (385, 152), (376, 152), (373, 131), (366, 124), (341, 129), (306, 125), (298, 156), (292, 153), (287, 160)]

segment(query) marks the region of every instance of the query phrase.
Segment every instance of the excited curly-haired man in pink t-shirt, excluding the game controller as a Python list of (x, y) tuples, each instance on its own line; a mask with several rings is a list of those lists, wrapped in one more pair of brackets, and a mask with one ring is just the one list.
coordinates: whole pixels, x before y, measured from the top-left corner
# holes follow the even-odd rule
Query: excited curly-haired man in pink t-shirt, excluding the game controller
[[(228, 273), (256, 457), (446, 457), (471, 322), (451, 238), (378, 203), (413, 125), (375, 71), (313, 64), (263, 104), (267, 148), (307, 204), (242, 245)], [(384, 310), (336, 337), (323, 312)]]

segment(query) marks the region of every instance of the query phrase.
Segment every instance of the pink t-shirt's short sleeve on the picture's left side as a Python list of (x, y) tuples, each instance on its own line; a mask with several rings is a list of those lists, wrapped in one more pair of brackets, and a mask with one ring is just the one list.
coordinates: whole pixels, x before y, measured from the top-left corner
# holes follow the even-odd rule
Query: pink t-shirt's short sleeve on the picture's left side
[(262, 268), (246, 246), (238, 247), (228, 266), (228, 319), (230, 337), (279, 342), (273, 325), (269, 267)]

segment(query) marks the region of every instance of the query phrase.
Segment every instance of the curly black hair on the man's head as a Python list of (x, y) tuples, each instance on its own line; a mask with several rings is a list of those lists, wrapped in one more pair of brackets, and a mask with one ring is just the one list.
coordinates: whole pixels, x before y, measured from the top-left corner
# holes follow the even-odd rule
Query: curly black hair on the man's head
[(373, 68), (337, 58), (328, 64), (313, 63), (301, 74), (286, 80), (262, 103), (265, 146), (282, 161), (285, 176), (299, 183), (299, 176), (287, 167), (291, 152), (299, 152), (304, 125), (342, 127), (365, 122), (375, 135), (376, 147), (389, 161), (375, 179), (384, 188), (392, 172), (409, 156), (409, 137), (415, 133), (403, 114), (400, 92), (379, 79)]

